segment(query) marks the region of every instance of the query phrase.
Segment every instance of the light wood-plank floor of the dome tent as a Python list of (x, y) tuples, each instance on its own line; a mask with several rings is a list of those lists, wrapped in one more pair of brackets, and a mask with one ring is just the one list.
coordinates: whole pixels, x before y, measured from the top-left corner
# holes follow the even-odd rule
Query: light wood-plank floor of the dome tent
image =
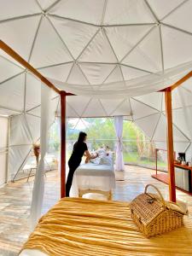
[[(113, 200), (131, 201), (143, 193), (148, 183), (156, 185), (168, 199), (168, 186), (152, 178), (151, 174), (154, 174), (154, 171), (137, 166), (125, 166), (125, 180), (116, 182)], [(0, 189), (0, 255), (17, 255), (29, 235), (27, 221), (32, 200), (32, 181), (33, 177), (28, 183), (22, 180)], [(49, 172), (45, 183), (43, 212), (47, 212), (49, 207), (58, 201), (59, 196), (59, 176), (57, 172)], [(177, 190), (177, 200), (185, 201), (192, 206), (192, 196), (182, 191)]]

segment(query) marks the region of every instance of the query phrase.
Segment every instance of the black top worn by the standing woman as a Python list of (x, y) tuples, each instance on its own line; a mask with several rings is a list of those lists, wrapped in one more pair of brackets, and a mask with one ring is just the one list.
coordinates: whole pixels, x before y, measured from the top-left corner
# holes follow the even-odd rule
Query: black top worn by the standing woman
[(84, 151), (88, 150), (86, 143), (74, 143), (73, 153), (68, 161), (69, 164), (79, 166), (82, 156), (84, 155)]

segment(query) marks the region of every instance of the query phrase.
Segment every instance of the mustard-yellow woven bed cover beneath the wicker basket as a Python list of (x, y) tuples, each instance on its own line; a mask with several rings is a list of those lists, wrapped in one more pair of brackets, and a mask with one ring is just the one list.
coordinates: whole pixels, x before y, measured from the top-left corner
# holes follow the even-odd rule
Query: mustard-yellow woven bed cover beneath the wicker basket
[(126, 202), (62, 199), (40, 219), (23, 249), (54, 256), (192, 255), (192, 217), (178, 230), (147, 239), (130, 213)]

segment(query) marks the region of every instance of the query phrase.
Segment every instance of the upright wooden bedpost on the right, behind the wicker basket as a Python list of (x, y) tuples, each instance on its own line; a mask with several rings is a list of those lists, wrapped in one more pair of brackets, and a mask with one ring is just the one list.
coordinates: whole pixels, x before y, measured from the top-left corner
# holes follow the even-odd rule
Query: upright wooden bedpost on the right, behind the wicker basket
[(169, 198), (170, 201), (176, 202), (175, 188), (175, 169), (174, 169), (174, 150), (173, 150), (173, 133), (172, 133), (172, 89), (165, 91), (166, 102), (166, 143), (168, 159), (168, 176), (169, 176)]

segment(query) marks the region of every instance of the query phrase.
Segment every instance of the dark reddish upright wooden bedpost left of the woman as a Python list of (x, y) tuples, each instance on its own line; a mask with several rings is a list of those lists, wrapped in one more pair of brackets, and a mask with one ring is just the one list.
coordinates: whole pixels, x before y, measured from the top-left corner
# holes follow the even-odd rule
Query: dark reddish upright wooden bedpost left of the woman
[(66, 92), (61, 90), (61, 198), (66, 196)]

